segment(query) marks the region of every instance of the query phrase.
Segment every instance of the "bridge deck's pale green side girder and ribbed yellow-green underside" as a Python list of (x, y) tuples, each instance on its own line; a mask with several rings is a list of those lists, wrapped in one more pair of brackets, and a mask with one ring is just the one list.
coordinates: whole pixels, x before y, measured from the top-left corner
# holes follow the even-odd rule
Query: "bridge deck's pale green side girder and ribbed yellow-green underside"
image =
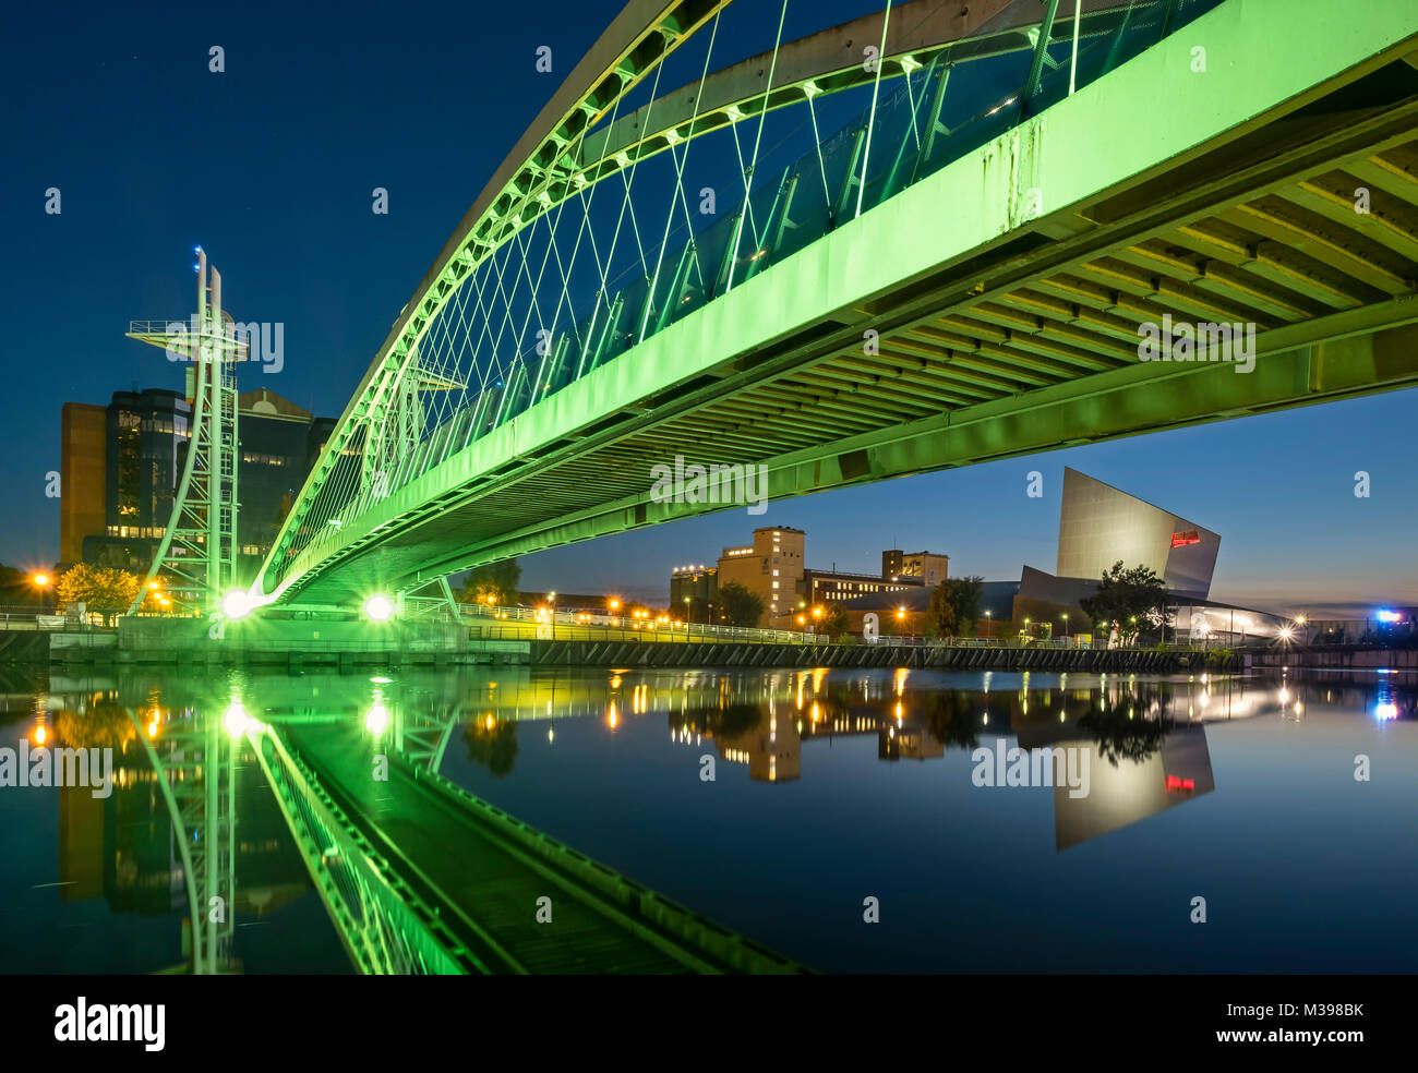
[[(723, 509), (651, 499), (676, 455), (781, 499), (1418, 384), (1418, 41), (1319, 61), (1248, 10), (1197, 23), (1228, 74), (1164, 41), (448, 459), (279, 597)], [(1254, 371), (1139, 361), (1166, 316), (1255, 325)]]

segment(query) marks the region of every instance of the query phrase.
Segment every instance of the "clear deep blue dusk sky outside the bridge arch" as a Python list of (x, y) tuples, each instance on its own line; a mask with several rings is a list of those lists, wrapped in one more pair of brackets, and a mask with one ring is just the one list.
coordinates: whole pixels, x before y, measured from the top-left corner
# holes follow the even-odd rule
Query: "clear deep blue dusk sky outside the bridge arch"
[[(743, 0), (749, 3), (749, 0)], [(737, 7), (737, 6), (736, 6)], [(777, 4), (771, 4), (777, 14)], [(858, 13), (790, 3), (786, 37)], [(190, 251), (221, 268), (238, 319), (284, 322), (286, 367), (248, 373), (337, 415), (394, 318), (611, 3), (78, 4), (7, 14), (0, 40), (0, 313), (9, 464), (0, 561), (58, 554), (60, 407), (179, 387), (123, 339), (186, 316)], [(207, 69), (225, 48), (225, 72)], [(553, 50), (554, 74), (535, 71)], [(744, 43), (740, 54), (763, 47)], [(62, 191), (62, 214), (44, 191)], [(389, 215), (370, 191), (390, 191)], [(1261, 607), (1418, 604), (1418, 393), (1310, 407), (974, 466), (625, 534), (523, 560), (526, 587), (664, 598), (675, 564), (712, 561), (754, 524), (808, 532), (810, 566), (871, 570), (930, 549), (951, 573), (1054, 567), (1065, 464), (1222, 534), (1212, 595)], [(1025, 496), (1025, 475), (1045, 496)], [(1370, 499), (1353, 495), (1368, 471)]]

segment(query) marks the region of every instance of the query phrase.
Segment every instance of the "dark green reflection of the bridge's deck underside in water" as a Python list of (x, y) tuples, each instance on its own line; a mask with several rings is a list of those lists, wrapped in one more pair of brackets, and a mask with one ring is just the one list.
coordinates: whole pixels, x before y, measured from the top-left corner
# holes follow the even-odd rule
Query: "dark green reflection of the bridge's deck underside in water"
[(376, 781), (359, 724), (285, 726), (281, 736), (492, 972), (803, 971), (394, 755), (389, 780)]

